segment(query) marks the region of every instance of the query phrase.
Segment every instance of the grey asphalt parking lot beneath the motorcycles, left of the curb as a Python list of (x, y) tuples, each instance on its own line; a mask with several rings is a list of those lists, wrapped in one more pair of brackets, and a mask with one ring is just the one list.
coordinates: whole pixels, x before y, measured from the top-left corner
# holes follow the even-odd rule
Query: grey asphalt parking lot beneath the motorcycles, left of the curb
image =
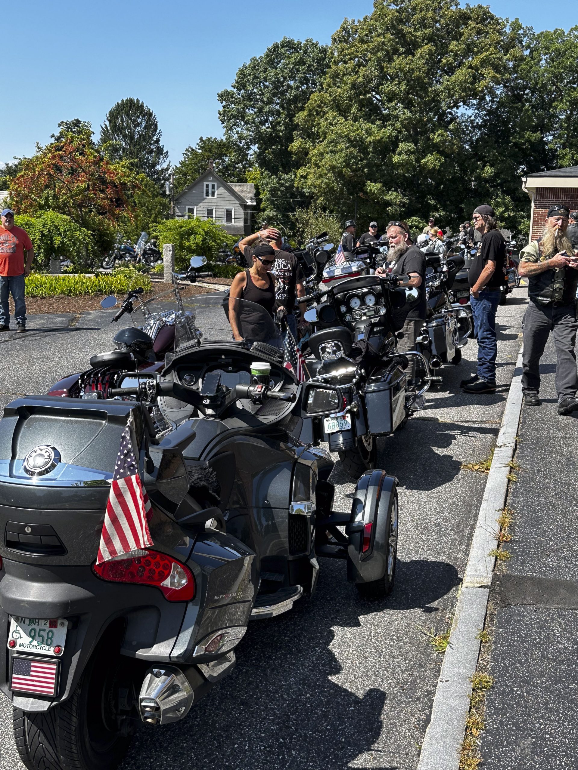
[[(476, 343), (442, 370), (439, 390), (400, 433), (378, 442), (378, 466), (400, 482), (395, 589), (358, 597), (341, 561), (322, 561), (318, 590), (293, 611), (250, 624), (237, 668), (187, 718), (144, 728), (123, 770), (175, 768), (382, 768), (414, 770), (428, 725), (441, 655), (425, 632), (449, 630), (486, 476), (462, 470), (489, 454), (519, 351), (525, 290), (499, 307), (498, 390), (468, 396)], [(0, 337), (0, 406), (42, 393), (109, 350), (113, 311), (31, 316), (25, 335)], [(337, 456), (336, 456), (337, 457)], [(338, 464), (334, 508), (355, 485)], [(22, 770), (10, 705), (0, 698), (0, 770)]]

